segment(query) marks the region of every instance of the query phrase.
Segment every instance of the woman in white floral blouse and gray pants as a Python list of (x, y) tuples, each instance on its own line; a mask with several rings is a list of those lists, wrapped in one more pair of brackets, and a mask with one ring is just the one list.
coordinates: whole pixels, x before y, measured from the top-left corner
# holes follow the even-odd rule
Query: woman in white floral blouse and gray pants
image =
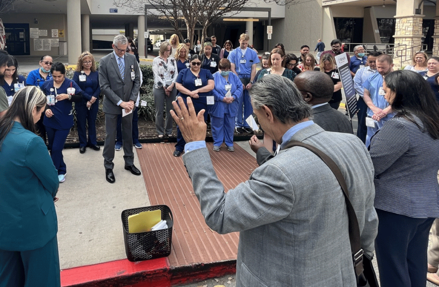
[[(177, 79), (177, 61), (170, 56), (171, 44), (163, 42), (158, 52), (158, 57), (152, 61), (152, 71), (154, 73), (154, 95), (155, 106), (155, 129), (158, 137), (163, 137), (166, 133), (172, 136), (172, 101), (175, 100), (177, 89), (175, 89), (175, 80)], [(163, 109), (166, 102), (166, 120), (163, 127)]]

